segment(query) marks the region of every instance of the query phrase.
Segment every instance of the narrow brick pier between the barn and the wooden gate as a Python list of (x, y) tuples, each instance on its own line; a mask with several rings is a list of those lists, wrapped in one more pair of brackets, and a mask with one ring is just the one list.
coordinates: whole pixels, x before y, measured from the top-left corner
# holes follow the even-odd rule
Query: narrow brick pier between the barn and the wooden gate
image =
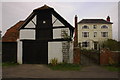
[(80, 64), (80, 48), (74, 48), (74, 64)]

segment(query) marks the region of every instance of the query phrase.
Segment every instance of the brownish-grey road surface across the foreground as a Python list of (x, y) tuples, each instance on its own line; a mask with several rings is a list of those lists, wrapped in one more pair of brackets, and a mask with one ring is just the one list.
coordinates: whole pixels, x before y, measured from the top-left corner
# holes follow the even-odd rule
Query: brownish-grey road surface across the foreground
[(3, 78), (118, 78), (118, 72), (99, 66), (86, 66), (81, 71), (53, 71), (45, 65), (22, 64), (3, 67)]

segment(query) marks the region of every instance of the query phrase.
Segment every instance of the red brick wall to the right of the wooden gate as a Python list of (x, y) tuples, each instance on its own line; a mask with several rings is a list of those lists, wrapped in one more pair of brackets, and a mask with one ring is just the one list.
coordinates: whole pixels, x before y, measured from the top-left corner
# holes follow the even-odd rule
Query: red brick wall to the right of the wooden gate
[(120, 52), (110, 51), (108, 49), (102, 49), (100, 51), (100, 64), (120, 64)]

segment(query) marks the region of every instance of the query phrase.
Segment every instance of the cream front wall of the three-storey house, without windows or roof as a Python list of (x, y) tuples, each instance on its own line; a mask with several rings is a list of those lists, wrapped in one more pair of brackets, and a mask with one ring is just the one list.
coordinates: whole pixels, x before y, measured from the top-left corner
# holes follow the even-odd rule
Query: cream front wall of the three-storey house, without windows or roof
[[(84, 25), (87, 25), (89, 29), (82, 29)], [(93, 25), (97, 25), (97, 29), (93, 29)], [(101, 26), (106, 25), (108, 29), (101, 29)], [(82, 32), (89, 32), (89, 37), (82, 37)], [(94, 37), (94, 32), (97, 32), (97, 37)], [(108, 32), (108, 37), (101, 37), (101, 32)], [(78, 24), (78, 43), (85, 41), (90, 42), (90, 47), (86, 49), (94, 49), (94, 41), (102, 42), (107, 39), (112, 39), (112, 24), (100, 24), (100, 23), (88, 23), (88, 24)], [(81, 44), (82, 45), (82, 44)]]

